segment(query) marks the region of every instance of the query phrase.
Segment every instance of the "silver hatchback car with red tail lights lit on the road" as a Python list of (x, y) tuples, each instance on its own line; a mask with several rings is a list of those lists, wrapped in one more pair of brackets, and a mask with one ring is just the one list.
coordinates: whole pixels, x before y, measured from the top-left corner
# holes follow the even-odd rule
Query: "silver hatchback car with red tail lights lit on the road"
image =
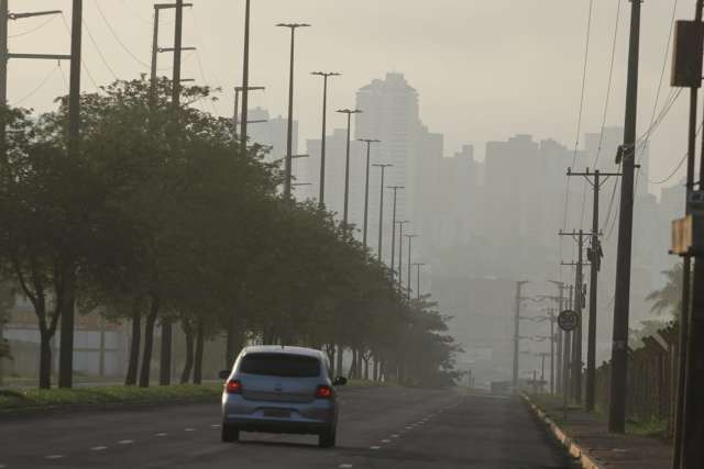
[(288, 346), (254, 346), (241, 353), (222, 392), (222, 440), (240, 432), (318, 435), (319, 446), (336, 444), (338, 402), (328, 361), (320, 350)]

